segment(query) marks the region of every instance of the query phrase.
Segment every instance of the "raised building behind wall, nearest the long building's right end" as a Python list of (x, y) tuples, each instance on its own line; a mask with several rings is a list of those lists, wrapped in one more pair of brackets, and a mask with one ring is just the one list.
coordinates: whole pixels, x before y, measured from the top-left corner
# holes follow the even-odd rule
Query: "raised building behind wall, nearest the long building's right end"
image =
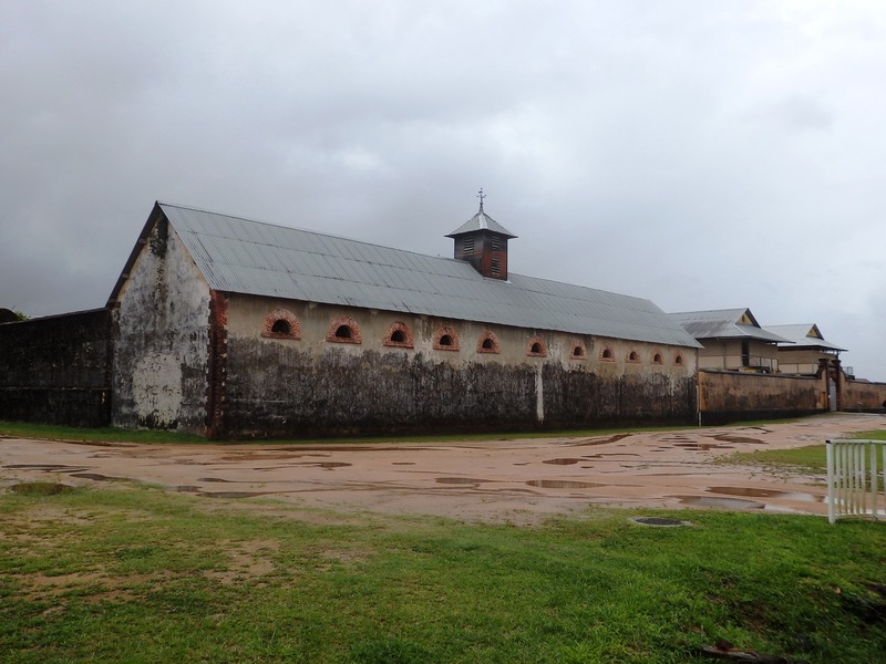
[(763, 329), (750, 309), (687, 311), (670, 318), (703, 346), (699, 369), (775, 373), (777, 344), (790, 343)]

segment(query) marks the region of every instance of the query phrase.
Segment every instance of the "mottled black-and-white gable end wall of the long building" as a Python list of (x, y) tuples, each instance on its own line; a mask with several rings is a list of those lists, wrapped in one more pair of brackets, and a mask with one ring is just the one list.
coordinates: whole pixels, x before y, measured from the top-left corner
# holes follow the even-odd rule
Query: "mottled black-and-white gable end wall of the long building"
[(162, 215), (114, 307), (115, 426), (203, 433), (209, 288)]

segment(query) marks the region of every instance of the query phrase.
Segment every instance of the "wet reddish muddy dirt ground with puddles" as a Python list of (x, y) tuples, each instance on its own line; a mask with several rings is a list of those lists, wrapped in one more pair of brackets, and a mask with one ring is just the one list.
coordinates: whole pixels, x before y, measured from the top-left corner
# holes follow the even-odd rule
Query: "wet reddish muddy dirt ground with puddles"
[(206, 499), (530, 523), (609, 507), (824, 515), (823, 476), (729, 465), (733, 452), (886, 428), (882, 415), (616, 436), (384, 444), (141, 445), (0, 438), (0, 491), (16, 483), (151, 483)]

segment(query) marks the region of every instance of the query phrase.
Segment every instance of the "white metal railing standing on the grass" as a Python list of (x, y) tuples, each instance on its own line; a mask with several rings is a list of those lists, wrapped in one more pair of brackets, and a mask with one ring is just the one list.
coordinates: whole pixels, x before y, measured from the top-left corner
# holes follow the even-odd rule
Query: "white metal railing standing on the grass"
[(827, 440), (827, 520), (886, 517), (886, 440)]

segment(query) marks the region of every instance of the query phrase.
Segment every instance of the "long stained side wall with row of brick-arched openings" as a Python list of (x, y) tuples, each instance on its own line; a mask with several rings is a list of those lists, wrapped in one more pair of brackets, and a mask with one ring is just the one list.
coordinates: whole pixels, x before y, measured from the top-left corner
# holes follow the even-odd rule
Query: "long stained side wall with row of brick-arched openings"
[[(693, 349), (235, 294), (227, 300), (219, 432), (228, 436), (694, 419)], [(281, 311), (297, 322), (298, 339), (261, 336)], [(356, 326), (359, 343), (329, 340), (343, 320)], [(412, 347), (384, 344), (396, 324), (409, 330)], [(443, 329), (457, 350), (435, 343)], [(488, 335), (494, 350), (482, 349)], [(545, 356), (532, 354), (533, 340)], [(574, 354), (577, 345), (584, 355)]]

